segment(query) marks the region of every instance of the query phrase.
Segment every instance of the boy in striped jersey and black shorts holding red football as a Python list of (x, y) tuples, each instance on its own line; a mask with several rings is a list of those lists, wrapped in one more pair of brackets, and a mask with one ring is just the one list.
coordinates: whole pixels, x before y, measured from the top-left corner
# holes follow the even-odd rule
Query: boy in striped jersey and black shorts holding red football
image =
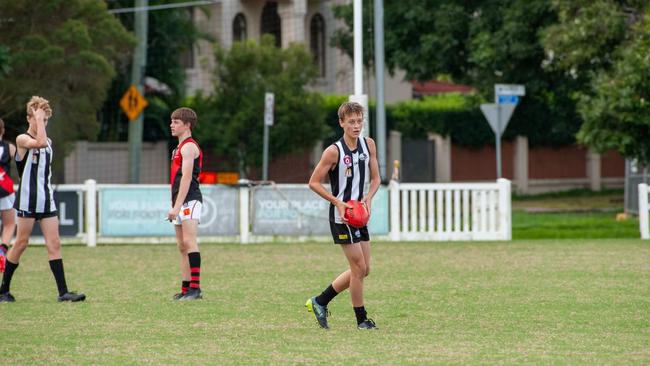
[[(330, 231), (335, 244), (340, 244), (350, 268), (341, 273), (318, 296), (307, 300), (307, 310), (313, 312), (322, 328), (327, 324), (329, 302), (340, 292), (350, 289), (352, 306), (359, 329), (376, 329), (369, 319), (363, 302), (363, 279), (370, 272), (370, 235), (368, 227), (352, 227), (345, 212), (352, 208), (347, 202), (361, 201), (370, 212), (372, 198), (380, 184), (377, 149), (371, 138), (361, 137), (363, 107), (346, 102), (339, 107), (339, 125), (343, 137), (325, 151), (309, 179), (309, 188), (330, 202)], [(321, 183), (329, 176), (332, 191)], [(367, 187), (369, 184), (369, 188)]]

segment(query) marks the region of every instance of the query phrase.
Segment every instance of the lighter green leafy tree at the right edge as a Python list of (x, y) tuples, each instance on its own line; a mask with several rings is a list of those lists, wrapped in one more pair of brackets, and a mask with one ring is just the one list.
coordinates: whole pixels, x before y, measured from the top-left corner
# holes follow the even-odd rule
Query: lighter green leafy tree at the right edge
[[(546, 37), (550, 61), (576, 79), (584, 120), (578, 141), (650, 163), (650, 7), (645, 1), (556, 1)], [(645, 7), (645, 10), (644, 10)]]

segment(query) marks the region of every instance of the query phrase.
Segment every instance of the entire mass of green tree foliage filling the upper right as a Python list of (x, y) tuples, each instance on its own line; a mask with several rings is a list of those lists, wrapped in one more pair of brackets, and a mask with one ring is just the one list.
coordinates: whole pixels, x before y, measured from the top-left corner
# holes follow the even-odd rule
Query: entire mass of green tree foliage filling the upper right
[[(352, 9), (342, 7), (345, 40)], [(484, 101), (495, 83), (524, 84), (506, 136), (545, 145), (577, 136), (648, 162), (648, 9), (647, 0), (385, 2), (386, 62), (408, 79), (472, 85)], [(336, 44), (351, 55), (350, 42)]]

